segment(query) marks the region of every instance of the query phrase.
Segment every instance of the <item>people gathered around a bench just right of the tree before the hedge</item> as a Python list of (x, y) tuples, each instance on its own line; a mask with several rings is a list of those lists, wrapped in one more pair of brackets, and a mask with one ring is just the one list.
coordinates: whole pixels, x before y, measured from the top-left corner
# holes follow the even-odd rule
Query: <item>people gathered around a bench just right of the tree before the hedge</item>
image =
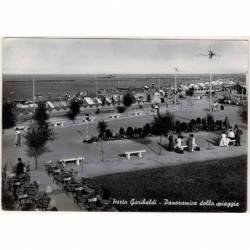
[(198, 146), (195, 141), (194, 134), (189, 134), (187, 141), (186, 141), (186, 146), (183, 145), (183, 136), (178, 135), (177, 138), (174, 138), (174, 135), (171, 134), (168, 137), (168, 149), (169, 151), (176, 151), (177, 153), (183, 153), (184, 148), (187, 147), (189, 152), (193, 152), (195, 148), (198, 149)]

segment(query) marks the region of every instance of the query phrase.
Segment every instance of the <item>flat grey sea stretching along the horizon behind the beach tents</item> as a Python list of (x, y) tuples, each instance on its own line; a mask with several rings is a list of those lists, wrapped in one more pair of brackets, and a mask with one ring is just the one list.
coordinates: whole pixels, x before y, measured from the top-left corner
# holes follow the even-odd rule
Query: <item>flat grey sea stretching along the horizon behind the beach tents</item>
[[(33, 80), (35, 94), (44, 97), (59, 97), (65, 94), (85, 92), (91, 95), (96, 91), (114, 88), (139, 89), (155, 84), (160, 87), (174, 85), (174, 74), (98, 74), (98, 75), (3, 75), (4, 100), (32, 100)], [(224, 79), (244, 82), (243, 74), (213, 75), (213, 80)], [(209, 81), (208, 74), (178, 74), (177, 84), (190, 84)]]

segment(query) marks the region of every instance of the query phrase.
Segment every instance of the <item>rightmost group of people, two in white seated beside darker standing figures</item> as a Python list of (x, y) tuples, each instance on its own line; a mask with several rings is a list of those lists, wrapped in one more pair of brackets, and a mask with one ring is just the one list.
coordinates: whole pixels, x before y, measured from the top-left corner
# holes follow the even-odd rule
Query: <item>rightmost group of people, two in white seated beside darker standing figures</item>
[(238, 125), (234, 126), (234, 129), (229, 128), (229, 130), (223, 131), (220, 139), (220, 147), (228, 147), (231, 141), (235, 141), (235, 146), (240, 146), (240, 137), (242, 135), (242, 130), (239, 129)]

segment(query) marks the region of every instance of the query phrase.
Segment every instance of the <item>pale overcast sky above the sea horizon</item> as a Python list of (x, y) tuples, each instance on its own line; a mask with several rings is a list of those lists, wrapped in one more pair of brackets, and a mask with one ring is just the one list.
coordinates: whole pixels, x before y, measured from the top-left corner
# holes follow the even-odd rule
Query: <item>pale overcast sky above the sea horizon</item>
[(214, 73), (248, 70), (247, 41), (27, 39), (3, 40), (4, 74), (208, 73), (212, 48)]

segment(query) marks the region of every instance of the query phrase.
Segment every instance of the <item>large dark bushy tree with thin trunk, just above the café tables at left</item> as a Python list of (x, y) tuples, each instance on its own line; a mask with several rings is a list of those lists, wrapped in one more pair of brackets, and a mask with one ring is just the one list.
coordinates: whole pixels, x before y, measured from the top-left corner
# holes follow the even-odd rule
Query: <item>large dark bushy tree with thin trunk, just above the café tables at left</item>
[(48, 140), (54, 139), (53, 129), (48, 122), (39, 124), (34, 122), (24, 135), (26, 145), (28, 146), (28, 154), (35, 158), (35, 166), (38, 169), (38, 157), (46, 151), (46, 144)]

